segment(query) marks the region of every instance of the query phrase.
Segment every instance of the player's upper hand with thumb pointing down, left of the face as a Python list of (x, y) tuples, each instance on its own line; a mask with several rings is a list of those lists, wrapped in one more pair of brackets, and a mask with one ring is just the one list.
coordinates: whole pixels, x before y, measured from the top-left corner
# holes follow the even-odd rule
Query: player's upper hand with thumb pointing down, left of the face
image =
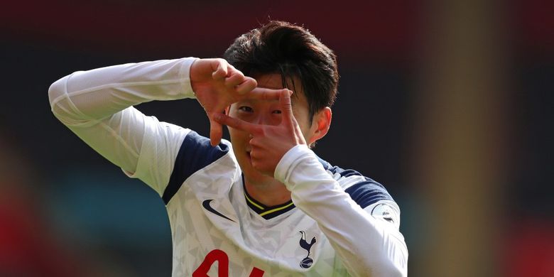
[(214, 114), (222, 113), (229, 105), (246, 97), (256, 88), (256, 80), (245, 77), (226, 60), (200, 59), (190, 67), (190, 84), (210, 119), (210, 143), (216, 146), (223, 130), (222, 125), (214, 121)]

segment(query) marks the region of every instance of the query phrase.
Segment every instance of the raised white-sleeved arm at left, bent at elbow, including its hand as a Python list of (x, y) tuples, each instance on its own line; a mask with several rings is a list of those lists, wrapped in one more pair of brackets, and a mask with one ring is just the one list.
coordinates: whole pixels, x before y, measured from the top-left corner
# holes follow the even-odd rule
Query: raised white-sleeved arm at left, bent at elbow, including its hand
[[(183, 58), (75, 72), (54, 82), (48, 93), (52, 112), (63, 124), (161, 194), (189, 130), (144, 116), (132, 106), (194, 98), (196, 92), (211, 116), (254, 87), (254, 79), (225, 60)], [(216, 144), (221, 137), (217, 126), (212, 126), (212, 133)]]

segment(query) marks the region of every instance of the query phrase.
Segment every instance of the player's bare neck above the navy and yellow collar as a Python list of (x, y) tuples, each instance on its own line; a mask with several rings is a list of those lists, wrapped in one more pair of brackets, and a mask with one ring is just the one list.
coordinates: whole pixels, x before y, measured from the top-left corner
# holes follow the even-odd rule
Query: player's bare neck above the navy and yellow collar
[(256, 201), (268, 207), (281, 205), (290, 201), (290, 191), (283, 183), (269, 178), (263, 183), (254, 183), (244, 176), (244, 188)]

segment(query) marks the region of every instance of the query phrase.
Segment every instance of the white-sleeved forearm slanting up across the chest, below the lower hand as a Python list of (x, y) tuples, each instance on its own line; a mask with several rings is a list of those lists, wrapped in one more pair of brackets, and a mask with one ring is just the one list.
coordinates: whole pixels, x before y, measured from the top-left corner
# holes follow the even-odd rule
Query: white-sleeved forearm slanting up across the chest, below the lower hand
[(406, 276), (408, 251), (393, 224), (375, 219), (340, 188), (308, 148), (295, 147), (276, 169), (293, 202), (317, 224), (353, 276)]

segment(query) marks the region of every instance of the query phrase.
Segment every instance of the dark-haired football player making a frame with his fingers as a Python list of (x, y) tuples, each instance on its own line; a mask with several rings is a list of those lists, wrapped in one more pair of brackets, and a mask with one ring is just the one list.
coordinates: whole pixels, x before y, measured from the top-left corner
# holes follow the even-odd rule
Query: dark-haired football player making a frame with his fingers
[[(331, 122), (332, 51), (299, 26), (271, 21), (224, 58), (75, 72), (50, 87), (50, 104), (89, 146), (161, 195), (173, 276), (406, 276), (389, 193), (309, 147)], [(131, 106), (182, 98), (204, 107), (210, 139)]]

